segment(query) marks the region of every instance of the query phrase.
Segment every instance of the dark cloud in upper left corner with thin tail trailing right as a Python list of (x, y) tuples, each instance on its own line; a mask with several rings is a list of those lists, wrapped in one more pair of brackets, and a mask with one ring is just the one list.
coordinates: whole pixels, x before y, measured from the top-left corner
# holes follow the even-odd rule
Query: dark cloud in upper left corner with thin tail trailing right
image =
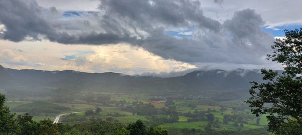
[[(52, 13), (57, 13), (51, 7)], [(88, 43), (104, 44), (127, 42), (133, 38), (129, 35), (115, 35), (112, 33), (96, 33), (70, 35), (57, 32), (52, 24), (42, 15), (42, 7), (35, 0), (0, 0), (0, 23), (6, 26), (3, 38), (12, 41), (22, 41), (26, 36), (38, 39), (39, 34), (45, 35), (51, 41), (60, 43)]]

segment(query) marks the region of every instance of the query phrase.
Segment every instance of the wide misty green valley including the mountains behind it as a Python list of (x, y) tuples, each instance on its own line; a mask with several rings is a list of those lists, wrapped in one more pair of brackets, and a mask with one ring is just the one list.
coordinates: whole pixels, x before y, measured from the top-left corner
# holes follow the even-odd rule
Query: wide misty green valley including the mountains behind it
[[(249, 85), (243, 84), (261, 78), (256, 70), (193, 71), (172, 78), (8, 68), (3, 73), (8, 81), (18, 82), (10, 88), (2, 85), (6, 104), (17, 114), (33, 115), (36, 121), (129, 124), (140, 119), (184, 134), (207, 129), (266, 132), (266, 117), (257, 118), (244, 102)], [(64, 79), (57, 81), (57, 77)], [(220, 83), (226, 80), (230, 84)], [(79, 86), (80, 81), (85, 86)], [(242, 85), (232, 88), (238, 81)]]

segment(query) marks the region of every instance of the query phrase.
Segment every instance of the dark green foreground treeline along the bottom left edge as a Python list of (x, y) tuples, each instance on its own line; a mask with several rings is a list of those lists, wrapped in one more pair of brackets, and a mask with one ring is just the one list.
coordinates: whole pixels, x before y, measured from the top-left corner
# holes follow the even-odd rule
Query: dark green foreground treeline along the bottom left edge
[(0, 93), (0, 134), (108, 134), (108, 135), (166, 135), (168, 130), (160, 127), (148, 127), (141, 120), (123, 125), (109, 121), (81, 122), (73, 125), (53, 123), (50, 119), (34, 121), (33, 116), (25, 113), (15, 117)]

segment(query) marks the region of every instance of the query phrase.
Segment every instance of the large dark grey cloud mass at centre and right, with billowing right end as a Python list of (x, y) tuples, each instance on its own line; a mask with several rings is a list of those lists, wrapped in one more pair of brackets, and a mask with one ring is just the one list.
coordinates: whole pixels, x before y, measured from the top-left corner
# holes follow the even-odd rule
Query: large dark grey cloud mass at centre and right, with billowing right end
[[(234, 18), (223, 25), (205, 17), (200, 2), (192, 0), (101, 0), (100, 9), (105, 12), (102, 24), (108, 31), (129, 33), (129, 27), (132, 31), (146, 31), (146, 37), (135, 32), (142, 38), (133, 40), (132, 44), (138, 42), (144, 49), (167, 59), (259, 64), (273, 40), (260, 29), (264, 22), (251, 9), (236, 12)], [(191, 25), (197, 25), (197, 31), (202, 34), (197, 32), (189, 39), (165, 33), (167, 28), (189, 28)]]

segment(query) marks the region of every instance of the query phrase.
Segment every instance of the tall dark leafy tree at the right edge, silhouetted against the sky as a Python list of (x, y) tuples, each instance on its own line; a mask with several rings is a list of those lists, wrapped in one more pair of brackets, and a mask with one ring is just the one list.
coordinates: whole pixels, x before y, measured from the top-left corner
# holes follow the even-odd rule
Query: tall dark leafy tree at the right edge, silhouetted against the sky
[(262, 69), (266, 82), (251, 82), (252, 96), (247, 102), (256, 116), (268, 114), (270, 131), (302, 134), (299, 132), (302, 127), (302, 28), (284, 31), (285, 39), (276, 39), (273, 53), (267, 55), (268, 59), (281, 63), (284, 71), (279, 74)]

